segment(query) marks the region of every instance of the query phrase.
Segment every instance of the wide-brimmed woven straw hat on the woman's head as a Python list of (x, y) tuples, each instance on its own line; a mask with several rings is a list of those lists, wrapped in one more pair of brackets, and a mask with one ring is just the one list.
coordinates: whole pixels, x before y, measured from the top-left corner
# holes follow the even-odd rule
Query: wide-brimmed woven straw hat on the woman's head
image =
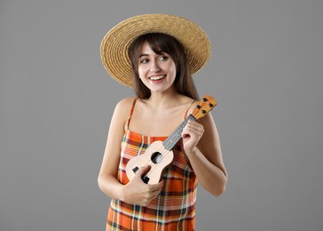
[(106, 71), (116, 81), (131, 84), (130, 44), (148, 33), (164, 33), (180, 41), (185, 48), (190, 72), (193, 75), (206, 65), (211, 54), (209, 36), (196, 23), (169, 14), (143, 14), (123, 20), (103, 38), (101, 60)]

